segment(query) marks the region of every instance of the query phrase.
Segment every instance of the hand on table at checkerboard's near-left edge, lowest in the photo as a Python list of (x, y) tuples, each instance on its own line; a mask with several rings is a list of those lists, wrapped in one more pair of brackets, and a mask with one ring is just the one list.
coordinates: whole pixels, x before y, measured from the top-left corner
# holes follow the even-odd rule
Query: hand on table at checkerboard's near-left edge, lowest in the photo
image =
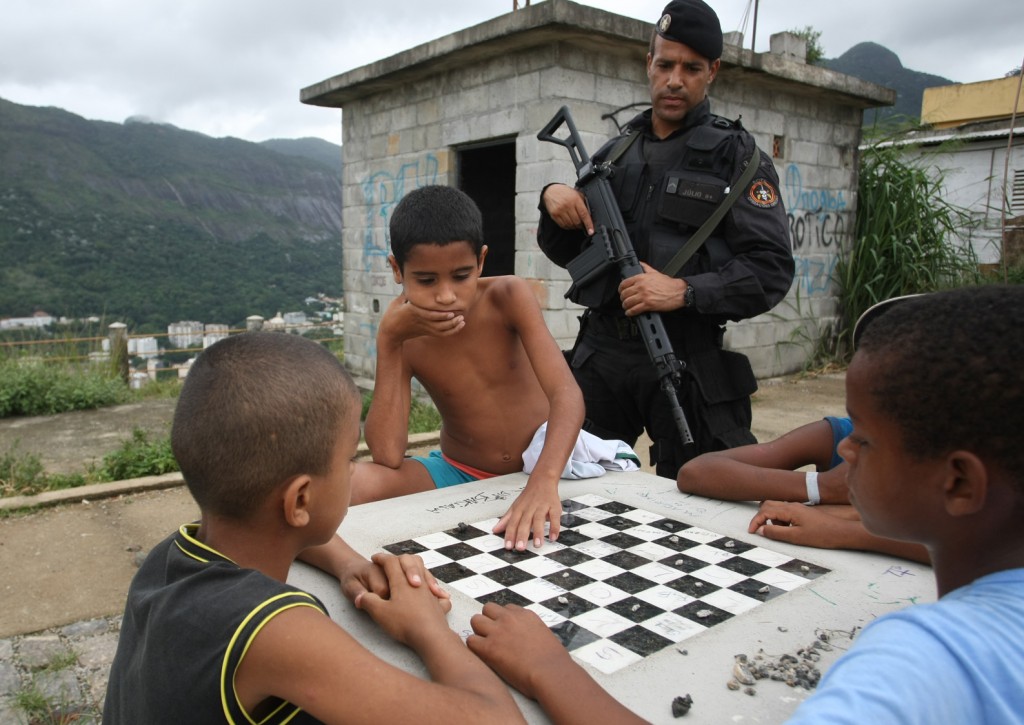
[(466, 639), (470, 651), (530, 699), (537, 699), (534, 682), (539, 678), (558, 681), (560, 673), (574, 666), (568, 650), (529, 609), (487, 602), (469, 624), (474, 632)]

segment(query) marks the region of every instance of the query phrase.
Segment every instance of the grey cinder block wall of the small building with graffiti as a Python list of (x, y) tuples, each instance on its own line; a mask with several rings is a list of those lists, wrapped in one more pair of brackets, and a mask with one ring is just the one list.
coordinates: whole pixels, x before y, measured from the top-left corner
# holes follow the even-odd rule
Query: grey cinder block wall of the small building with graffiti
[[(455, 183), (453, 146), (516, 139), (516, 273), (531, 281), (553, 335), (571, 345), (580, 308), (563, 293), (568, 274), (536, 241), (541, 189), (572, 182), (566, 151), (537, 139), (567, 104), (591, 153), (614, 133), (602, 114), (649, 100), (646, 46), (618, 52), (569, 42), (532, 46), (450, 65), (386, 93), (346, 102), (343, 117), (346, 365), (372, 378), (381, 314), (397, 295), (386, 264), (387, 223), (402, 196), (429, 183)], [(856, 147), (863, 104), (842, 104), (813, 85), (752, 73), (748, 51), (726, 47), (712, 86), (712, 110), (741, 117), (771, 155), (790, 215), (797, 276), (775, 309), (729, 327), (726, 345), (748, 354), (759, 377), (799, 370), (836, 314), (831, 271), (856, 207)], [(791, 62), (786, 60), (785, 62)], [(809, 74), (827, 73), (808, 69)], [(835, 76), (835, 74), (833, 74)], [(634, 111), (620, 114), (621, 122)], [(742, 201), (738, 203), (743, 203)]]

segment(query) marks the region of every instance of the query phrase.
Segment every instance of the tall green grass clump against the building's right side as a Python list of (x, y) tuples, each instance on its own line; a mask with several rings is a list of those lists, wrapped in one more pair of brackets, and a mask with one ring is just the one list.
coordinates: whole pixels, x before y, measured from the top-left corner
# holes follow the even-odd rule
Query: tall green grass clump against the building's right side
[(981, 282), (970, 244), (967, 210), (945, 199), (943, 175), (909, 159), (899, 146), (864, 150), (851, 249), (841, 254), (835, 279), (841, 323), (831, 349), (848, 359), (853, 326), (871, 305), (899, 295)]

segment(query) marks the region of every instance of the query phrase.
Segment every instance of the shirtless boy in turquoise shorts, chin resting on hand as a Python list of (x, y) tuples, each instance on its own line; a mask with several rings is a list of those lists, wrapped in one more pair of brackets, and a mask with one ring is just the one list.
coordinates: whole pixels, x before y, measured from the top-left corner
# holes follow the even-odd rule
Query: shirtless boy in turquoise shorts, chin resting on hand
[[(583, 395), (525, 281), (480, 276), (487, 248), (473, 201), (451, 186), (408, 194), (391, 216), (388, 262), (402, 293), (377, 333), (377, 375), (352, 504), (523, 470), (526, 487), (495, 527), (508, 549), (558, 537), (558, 479), (583, 424)], [(412, 379), (441, 416), (440, 456), (406, 458)]]

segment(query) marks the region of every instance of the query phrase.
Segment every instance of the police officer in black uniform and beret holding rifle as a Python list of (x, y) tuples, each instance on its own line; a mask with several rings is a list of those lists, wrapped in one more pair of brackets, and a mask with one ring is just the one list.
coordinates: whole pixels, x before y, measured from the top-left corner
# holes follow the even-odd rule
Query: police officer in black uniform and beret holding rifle
[[(630, 444), (646, 428), (651, 462), (668, 478), (692, 455), (756, 442), (750, 396), (757, 380), (744, 355), (722, 349), (725, 324), (771, 309), (794, 276), (771, 158), (739, 121), (711, 113), (708, 88), (721, 55), (715, 11), (701, 0), (670, 2), (647, 53), (652, 108), (594, 155), (613, 158), (610, 183), (645, 273), (620, 281), (611, 267), (610, 294), (585, 302), (570, 355), (587, 403), (585, 428)], [(744, 177), (748, 163), (757, 168)], [(681, 270), (663, 273), (741, 177), (749, 180), (707, 241)], [(565, 266), (594, 232), (585, 199), (571, 186), (550, 184), (540, 209), (541, 249)], [(695, 451), (684, 451), (638, 334), (634, 318), (643, 312), (662, 314), (685, 364), (679, 392)]]

